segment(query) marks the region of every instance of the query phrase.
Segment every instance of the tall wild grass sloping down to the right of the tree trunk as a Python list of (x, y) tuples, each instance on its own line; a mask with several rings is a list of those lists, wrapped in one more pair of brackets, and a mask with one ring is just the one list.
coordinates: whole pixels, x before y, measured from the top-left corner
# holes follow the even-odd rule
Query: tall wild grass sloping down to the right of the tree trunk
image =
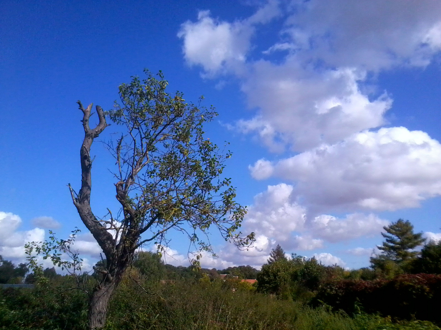
[[(233, 287), (236, 290), (232, 290)], [(141, 293), (126, 282), (111, 303), (108, 330), (380, 330), (439, 329), (432, 323), (391, 323), (360, 313), (350, 317), (329, 308), (277, 300), (234, 282), (176, 282)], [(398, 326), (398, 328), (396, 328)]]

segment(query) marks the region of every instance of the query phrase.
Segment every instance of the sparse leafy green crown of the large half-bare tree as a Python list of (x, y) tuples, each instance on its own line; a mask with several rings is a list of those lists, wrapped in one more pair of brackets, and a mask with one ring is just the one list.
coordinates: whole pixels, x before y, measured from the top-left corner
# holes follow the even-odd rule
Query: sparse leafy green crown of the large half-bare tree
[(165, 233), (175, 228), (198, 249), (212, 251), (204, 236), (213, 225), (225, 240), (248, 245), (254, 234), (239, 232), (246, 209), (235, 202), (231, 180), (221, 178), (232, 154), (204, 136), (203, 125), (217, 113), (186, 103), (181, 92), (168, 93), (161, 72), (158, 78), (145, 73), (143, 80), (133, 77), (120, 85), (120, 100), (108, 112), (123, 126), (120, 138), (108, 143), (116, 158), (122, 237), (144, 233), (148, 238), (137, 246), (152, 241), (161, 246)]

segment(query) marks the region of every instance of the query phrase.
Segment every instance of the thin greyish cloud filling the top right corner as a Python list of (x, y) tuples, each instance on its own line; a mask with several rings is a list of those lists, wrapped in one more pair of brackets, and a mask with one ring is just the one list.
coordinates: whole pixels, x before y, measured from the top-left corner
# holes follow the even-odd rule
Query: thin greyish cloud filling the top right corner
[(440, 50), (437, 1), (295, 1), (284, 39), (304, 59), (379, 70), (425, 66)]

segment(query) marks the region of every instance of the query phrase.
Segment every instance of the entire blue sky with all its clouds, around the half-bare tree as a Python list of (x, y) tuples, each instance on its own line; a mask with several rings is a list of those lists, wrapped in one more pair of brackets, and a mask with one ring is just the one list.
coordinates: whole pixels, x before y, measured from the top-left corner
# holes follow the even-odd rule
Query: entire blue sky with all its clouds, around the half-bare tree
[[(112, 107), (117, 87), (162, 70), (187, 100), (219, 112), (226, 175), (248, 205), (240, 252), (213, 233), (207, 267), (265, 262), (279, 243), (327, 264), (368, 265), (398, 218), (441, 238), (441, 4), (423, 1), (3, 1), (0, 4), (0, 254), (84, 227), (75, 104)], [(111, 132), (111, 129), (108, 129)], [(117, 209), (93, 145), (93, 209)], [(46, 232), (46, 234), (45, 234)], [(187, 264), (171, 233), (167, 262)], [(82, 231), (93, 264), (99, 248)]]

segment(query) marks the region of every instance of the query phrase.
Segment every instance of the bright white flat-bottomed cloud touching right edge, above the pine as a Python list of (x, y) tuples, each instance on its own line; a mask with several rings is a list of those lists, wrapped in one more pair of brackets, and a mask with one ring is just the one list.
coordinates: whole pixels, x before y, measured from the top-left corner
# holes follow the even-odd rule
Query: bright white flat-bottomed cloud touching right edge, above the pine
[(441, 145), (404, 127), (354, 134), (273, 164), (273, 173), (297, 183), (295, 194), (314, 209), (396, 210), (441, 194)]

